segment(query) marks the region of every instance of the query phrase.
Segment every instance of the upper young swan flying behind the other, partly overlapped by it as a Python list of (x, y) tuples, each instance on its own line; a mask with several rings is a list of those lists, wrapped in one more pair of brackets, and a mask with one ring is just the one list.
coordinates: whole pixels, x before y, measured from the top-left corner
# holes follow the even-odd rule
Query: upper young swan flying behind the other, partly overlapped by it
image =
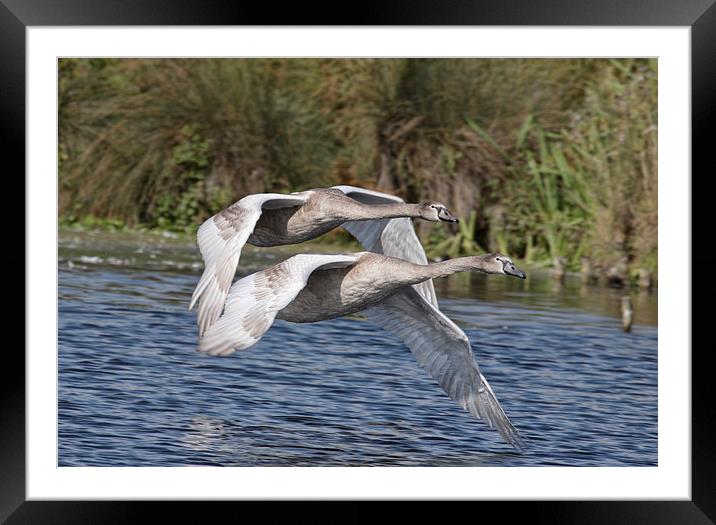
[[(199, 227), (204, 272), (191, 297), (199, 299), (199, 335), (221, 315), (241, 249), (296, 244), (343, 225), (366, 250), (427, 264), (410, 217), (458, 222), (439, 202), (406, 204), (400, 197), (355, 186), (316, 188), (291, 194), (259, 193), (232, 204)], [(437, 306), (432, 282), (419, 291)]]

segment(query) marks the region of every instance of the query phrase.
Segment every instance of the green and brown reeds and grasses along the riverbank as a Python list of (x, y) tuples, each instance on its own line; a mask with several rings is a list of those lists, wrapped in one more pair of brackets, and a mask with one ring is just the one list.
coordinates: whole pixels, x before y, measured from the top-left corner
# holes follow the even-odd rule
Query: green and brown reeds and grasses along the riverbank
[(193, 232), (353, 184), (448, 205), (433, 256), (628, 281), (657, 271), (656, 126), (654, 59), (61, 59), (60, 219)]

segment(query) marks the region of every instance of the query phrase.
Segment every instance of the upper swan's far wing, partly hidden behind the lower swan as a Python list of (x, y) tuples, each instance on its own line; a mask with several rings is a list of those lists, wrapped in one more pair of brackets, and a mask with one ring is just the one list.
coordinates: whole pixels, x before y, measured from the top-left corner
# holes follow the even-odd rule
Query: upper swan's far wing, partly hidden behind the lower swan
[[(363, 204), (403, 202), (403, 199), (395, 195), (356, 188), (355, 186), (333, 186), (333, 188), (341, 190), (348, 197)], [(343, 227), (358, 239), (358, 242), (368, 251), (382, 253), (415, 264), (428, 264), (423, 245), (420, 244), (420, 239), (415, 234), (413, 223), (408, 217), (349, 221), (344, 223)], [(438, 307), (438, 299), (435, 296), (432, 279), (413, 285), (413, 287), (435, 308)]]

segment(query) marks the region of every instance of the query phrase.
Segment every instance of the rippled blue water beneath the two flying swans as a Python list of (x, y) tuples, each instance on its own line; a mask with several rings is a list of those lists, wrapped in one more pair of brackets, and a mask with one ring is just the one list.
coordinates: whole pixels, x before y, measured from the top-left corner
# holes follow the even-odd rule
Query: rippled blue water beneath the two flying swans
[(364, 319), (277, 321), (253, 348), (210, 357), (195, 351), (187, 310), (198, 271), (70, 266), (59, 273), (60, 466), (657, 464), (655, 293), (624, 333), (619, 290), (436, 282), (528, 441), (520, 453)]

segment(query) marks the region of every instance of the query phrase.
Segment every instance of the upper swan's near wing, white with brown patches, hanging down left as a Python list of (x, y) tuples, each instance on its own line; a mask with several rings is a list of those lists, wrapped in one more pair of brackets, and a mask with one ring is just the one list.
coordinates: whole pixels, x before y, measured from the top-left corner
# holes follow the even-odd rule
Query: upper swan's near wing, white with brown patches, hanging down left
[(196, 234), (201, 255), (204, 258), (204, 273), (196, 286), (189, 309), (199, 301), (197, 325), (203, 335), (221, 315), (241, 249), (254, 231), (261, 210), (299, 206), (307, 195), (282, 195), (280, 193), (258, 193), (249, 195), (223, 211), (204, 221)]

